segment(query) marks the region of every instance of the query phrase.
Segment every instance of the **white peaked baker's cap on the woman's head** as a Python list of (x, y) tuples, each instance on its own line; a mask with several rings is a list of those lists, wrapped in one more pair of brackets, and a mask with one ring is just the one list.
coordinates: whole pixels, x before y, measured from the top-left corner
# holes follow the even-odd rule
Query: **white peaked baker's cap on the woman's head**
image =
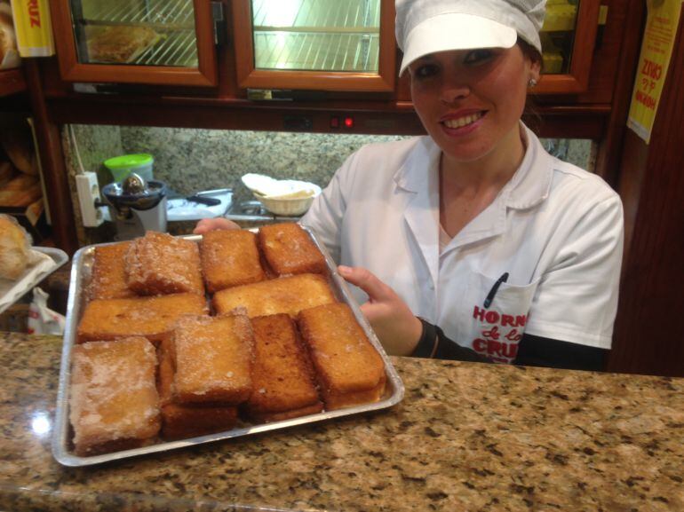
[(511, 48), (518, 36), (541, 53), (546, 0), (396, 0), (399, 75), (428, 53)]

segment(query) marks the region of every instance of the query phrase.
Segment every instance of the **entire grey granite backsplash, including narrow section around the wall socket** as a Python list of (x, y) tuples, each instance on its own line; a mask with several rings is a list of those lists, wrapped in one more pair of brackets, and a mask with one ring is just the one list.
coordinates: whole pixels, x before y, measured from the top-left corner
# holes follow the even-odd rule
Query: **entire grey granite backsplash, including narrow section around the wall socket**
[[(249, 201), (251, 193), (240, 177), (257, 172), (293, 178), (324, 187), (335, 170), (359, 147), (401, 136), (313, 134), (274, 131), (187, 130), (171, 128), (73, 125), (62, 131), (69, 185), (78, 204), (74, 177), (84, 170), (98, 173), (99, 185), (111, 181), (102, 162), (113, 156), (149, 153), (155, 157), (155, 178), (175, 192), (188, 195), (202, 190), (232, 187), (234, 201)], [(76, 145), (74, 144), (76, 140)], [(542, 139), (562, 160), (593, 169), (591, 140)], [(77, 152), (76, 152), (77, 149)], [(80, 160), (80, 163), (79, 163)], [(83, 228), (76, 208), (78, 238), (82, 245), (111, 240), (113, 224)]]

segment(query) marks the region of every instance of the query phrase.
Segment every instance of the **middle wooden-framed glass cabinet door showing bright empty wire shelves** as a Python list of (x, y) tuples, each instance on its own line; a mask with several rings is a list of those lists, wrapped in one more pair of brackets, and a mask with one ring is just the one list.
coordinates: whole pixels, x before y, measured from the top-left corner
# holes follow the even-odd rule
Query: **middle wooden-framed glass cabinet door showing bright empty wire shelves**
[(393, 91), (394, 0), (235, 0), (247, 89)]

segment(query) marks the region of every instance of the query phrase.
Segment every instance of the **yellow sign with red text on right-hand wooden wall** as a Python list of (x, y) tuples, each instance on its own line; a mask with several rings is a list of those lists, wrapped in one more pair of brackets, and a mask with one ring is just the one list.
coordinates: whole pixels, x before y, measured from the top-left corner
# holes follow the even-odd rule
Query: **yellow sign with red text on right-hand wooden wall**
[(682, 0), (648, 0), (648, 18), (627, 119), (627, 126), (647, 144), (670, 65), (681, 6)]

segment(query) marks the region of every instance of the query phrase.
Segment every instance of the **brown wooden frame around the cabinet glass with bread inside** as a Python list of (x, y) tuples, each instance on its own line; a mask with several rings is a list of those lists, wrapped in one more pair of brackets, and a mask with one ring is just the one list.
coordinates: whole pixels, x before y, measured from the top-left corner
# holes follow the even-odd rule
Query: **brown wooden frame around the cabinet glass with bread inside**
[(214, 86), (218, 83), (211, 3), (193, 0), (198, 67), (84, 64), (78, 61), (69, 0), (51, 0), (52, 26), (60, 61), (60, 75), (68, 82), (151, 83)]

